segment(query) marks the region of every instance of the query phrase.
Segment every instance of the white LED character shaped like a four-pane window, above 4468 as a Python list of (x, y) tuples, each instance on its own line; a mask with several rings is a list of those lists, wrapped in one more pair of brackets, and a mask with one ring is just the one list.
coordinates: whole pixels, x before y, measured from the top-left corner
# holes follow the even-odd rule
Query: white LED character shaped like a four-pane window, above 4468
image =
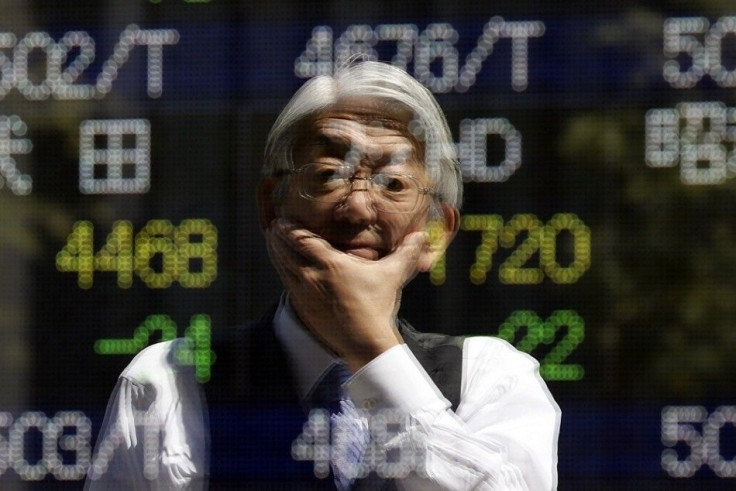
[[(95, 136), (105, 136), (106, 146), (95, 147)], [(123, 147), (123, 136), (132, 135), (133, 148)], [(82, 121), (79, 127), (79, 190), (84, 194), (145, 193), (151, 185), (151, 125), (145, 119)], [(132, 175), (125, 175), (124, 166)], [(95, 167), (104, 176), (95, 175)]]

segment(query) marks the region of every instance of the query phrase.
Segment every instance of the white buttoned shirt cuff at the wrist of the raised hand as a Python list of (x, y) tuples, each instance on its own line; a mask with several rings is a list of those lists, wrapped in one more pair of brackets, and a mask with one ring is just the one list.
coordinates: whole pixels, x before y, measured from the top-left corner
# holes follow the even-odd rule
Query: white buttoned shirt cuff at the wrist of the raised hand
[(413, 414), (450, 407), (406, 344), (371, 360), (345, 383), (345, 389), (356, 407), (366, 410), (390, 408)]

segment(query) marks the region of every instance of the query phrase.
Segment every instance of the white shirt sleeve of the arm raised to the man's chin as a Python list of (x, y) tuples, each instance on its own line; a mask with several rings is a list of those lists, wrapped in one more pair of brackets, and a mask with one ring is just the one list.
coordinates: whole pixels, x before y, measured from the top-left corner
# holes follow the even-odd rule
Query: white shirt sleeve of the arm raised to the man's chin
[(418, 472), (401, 480), (404, 489), (557, 486), (560, 409), (537, 361), (505, 341), (465, 340), (456, 412), (406, 345), (372, 360), (346, 389), (358, 408), (371, 415), (388, 412), (394, 426), (403, 426), (385, 447), (409, 450), (416, 459)]

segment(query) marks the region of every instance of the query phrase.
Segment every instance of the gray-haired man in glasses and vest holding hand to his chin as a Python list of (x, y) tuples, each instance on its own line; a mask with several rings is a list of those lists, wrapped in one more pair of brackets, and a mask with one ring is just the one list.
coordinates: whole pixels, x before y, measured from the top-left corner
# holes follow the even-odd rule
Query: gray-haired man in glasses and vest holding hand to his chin
[[(498, 339), (423, 334), (397, 317), (403, 288), (459, 224), (454, 145), (429, 91), (376, 62), (315, 77), (274, 124), (263, 171), (279, 304), (216, 337), (209, 418), (176, 363), (180, 341), (140, 353), (108, 406), (104, 431), (120, 444), (88, 484), (306, 489), (291, 464), (313, 460), (325, 477), (321, 458), (333, 475), (313, 480), (329, 488), (555, 488), (560, 412), (538, 364)], [(163, 436), (146, 454), (150, 421)], [(315, 442), (330, 427), (324, 457)]]

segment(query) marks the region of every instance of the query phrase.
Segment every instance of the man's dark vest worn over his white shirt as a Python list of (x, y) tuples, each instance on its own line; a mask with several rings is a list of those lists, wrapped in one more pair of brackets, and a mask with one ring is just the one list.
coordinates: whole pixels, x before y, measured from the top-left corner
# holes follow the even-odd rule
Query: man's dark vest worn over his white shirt
[[(270, 312), (250, 325), (213, 336), (216, 361), (205, 384), (210, 423), (210, 489), (334, 489), (317, 479), (312, 462), (291, 458), (291, 443), (306, 420), (289, 362)], [(462, 338), (399, 331), (419, 363), (451, 402), (460, 402)], [(371, 473), (356, 490), (395, 489)]]

